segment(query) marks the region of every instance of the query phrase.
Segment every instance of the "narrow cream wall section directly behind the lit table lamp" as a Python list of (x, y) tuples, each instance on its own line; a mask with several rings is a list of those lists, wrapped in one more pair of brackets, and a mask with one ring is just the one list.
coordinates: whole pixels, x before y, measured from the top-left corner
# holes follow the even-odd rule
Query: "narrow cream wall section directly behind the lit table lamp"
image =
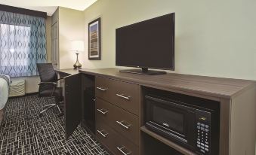
[[(82, 40), (85, 36), (84, 12), (59, 7), (60, 68), (72, 68), (76, 53), (70, 51), (70, 41)], [(85, 59), (79, 55), (79, 60)]]

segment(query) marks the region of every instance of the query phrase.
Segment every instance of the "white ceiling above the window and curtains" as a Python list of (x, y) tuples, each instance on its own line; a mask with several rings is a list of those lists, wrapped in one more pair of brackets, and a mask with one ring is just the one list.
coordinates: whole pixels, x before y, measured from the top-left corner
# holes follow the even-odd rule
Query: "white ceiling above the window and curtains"
[(35, 11), (47, 12), (48, 16), (54, 14), (57, 6), (84, 11), (97, 0), (0, 0), (1, 5), (10, 5)]

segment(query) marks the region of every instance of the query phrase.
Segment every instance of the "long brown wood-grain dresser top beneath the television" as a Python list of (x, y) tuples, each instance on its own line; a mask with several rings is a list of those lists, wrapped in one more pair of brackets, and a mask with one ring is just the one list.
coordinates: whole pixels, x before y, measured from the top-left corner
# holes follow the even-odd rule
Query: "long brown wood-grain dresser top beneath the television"
[(256, 81), (214, 78), (189, 74), (142, 75), (119, 72), (117, 68), (80, 69), (80, 73), (116, 78), (147, 87), (181, 90), (206, 96), (230, 99), (238, 93), (255, 87)]

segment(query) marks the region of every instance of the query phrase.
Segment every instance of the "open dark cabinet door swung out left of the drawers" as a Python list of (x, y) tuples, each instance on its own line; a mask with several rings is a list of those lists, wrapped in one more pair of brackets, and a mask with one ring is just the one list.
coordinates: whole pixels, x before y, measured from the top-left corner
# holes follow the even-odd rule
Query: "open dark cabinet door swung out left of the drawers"
[(81, 74), (64, 78), (63, 90), (66, 138), (69, 138), (82, 121)]

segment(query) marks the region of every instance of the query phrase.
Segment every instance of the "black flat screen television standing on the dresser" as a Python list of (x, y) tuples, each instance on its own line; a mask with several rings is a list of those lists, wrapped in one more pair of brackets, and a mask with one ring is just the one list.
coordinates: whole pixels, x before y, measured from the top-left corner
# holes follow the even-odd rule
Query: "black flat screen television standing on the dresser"
[(137, 74), (174, 70), (174, 30), (174, 13), (116, 29), (116, 65), (142, 68), (121, 70)]

